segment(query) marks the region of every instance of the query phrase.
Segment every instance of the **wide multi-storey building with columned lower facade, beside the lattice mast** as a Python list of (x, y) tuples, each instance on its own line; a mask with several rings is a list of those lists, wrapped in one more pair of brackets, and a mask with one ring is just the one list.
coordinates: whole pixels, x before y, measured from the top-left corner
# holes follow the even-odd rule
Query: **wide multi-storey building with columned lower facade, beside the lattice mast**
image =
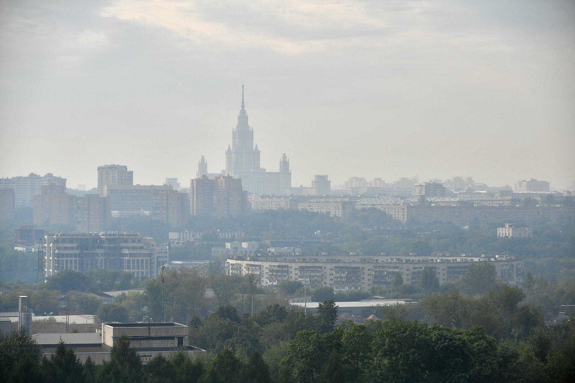
[(45, 276), (71, 269), (108, 269), (155, 277), (156, 244), (138, 233), (57, 233), (45, 236)]

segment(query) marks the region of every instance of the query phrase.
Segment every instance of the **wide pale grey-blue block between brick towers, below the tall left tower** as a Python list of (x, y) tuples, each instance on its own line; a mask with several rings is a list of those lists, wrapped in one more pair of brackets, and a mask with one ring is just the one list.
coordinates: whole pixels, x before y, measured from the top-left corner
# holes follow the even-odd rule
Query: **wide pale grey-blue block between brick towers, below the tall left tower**
[(110, 198), (110, 209), (119, 215), (152, 212), (155, 193), (170, 191), (170, 185), (104, 185), (104, 196)]

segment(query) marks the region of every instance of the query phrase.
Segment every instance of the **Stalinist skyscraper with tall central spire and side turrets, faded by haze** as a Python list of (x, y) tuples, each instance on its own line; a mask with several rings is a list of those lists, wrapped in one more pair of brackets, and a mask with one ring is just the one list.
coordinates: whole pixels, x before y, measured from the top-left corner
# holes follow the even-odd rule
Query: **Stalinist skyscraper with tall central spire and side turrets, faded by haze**
[[(255, 194), (290, 194), (292, 172), (289, 159), (283, 154), (279, 161), (279, 171), (266, 171), (260, 167), (260, 151), (254, 145), (254, 129), (248, 124), (246, 104), (244, 103), (244, 86), (241, 86), (241, 109), (237, 115), (237, 125), (232, 129), (232, 144), (225, 151), (225, 174), (241, 178), (243, 190)], [(207, 164), (198, 163), (198, 174), (207, 173)]]

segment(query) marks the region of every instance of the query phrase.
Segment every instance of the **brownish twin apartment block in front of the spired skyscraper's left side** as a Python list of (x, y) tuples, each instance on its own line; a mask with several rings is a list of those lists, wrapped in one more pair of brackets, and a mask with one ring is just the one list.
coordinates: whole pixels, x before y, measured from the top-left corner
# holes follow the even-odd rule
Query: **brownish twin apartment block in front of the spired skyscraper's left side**
[(232, 177), (192, 179), (190, 182), (190, 214), (214, 217), (243, 215), (248, 208), (247, 192), (243, 191), (242, 180)]

